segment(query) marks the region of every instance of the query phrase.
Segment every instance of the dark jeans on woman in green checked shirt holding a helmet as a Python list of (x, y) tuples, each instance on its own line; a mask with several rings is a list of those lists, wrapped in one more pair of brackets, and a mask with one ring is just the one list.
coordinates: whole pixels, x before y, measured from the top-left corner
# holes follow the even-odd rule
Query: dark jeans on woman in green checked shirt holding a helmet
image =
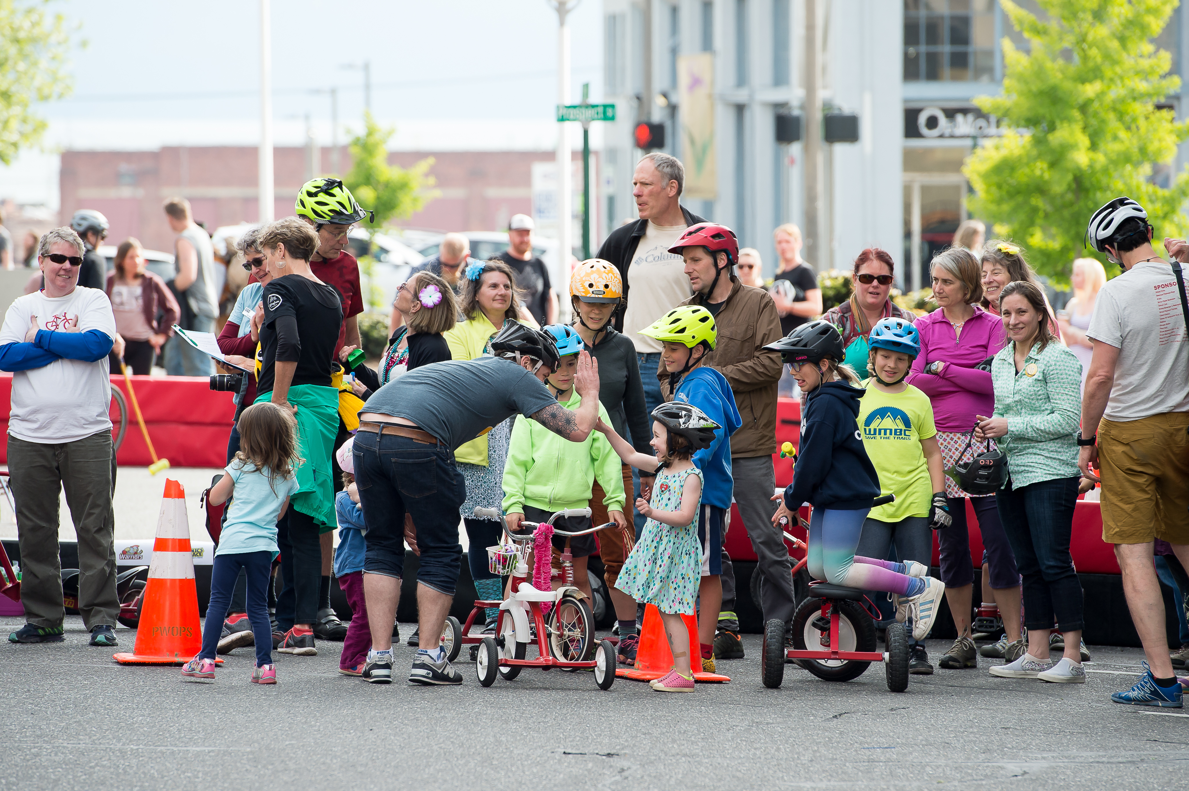
[(1082, 584), (1069, 553), (1078, 477), (1057, 477), (995, 494), (999, 518), (1024, 577), (1024, 626), (1082, 628)]

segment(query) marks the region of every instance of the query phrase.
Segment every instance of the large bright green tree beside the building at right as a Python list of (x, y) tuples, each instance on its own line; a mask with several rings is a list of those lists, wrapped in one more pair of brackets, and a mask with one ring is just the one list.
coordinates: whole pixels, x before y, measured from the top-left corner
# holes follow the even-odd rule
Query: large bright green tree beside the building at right
[[(1001, 0), (1031, 45), (1004, 39), (1004, 93), (975, 103), (1009, 131), (977, 148), (963, 172), (974, 214), (1028, 251), (1043, 274), (1064, 280), (1090, 215), (1113, 197), (1143, 204), (1157, 239), (1185, 228), (1189, 179), (1152, 183), (1153, 164), (1170, 163), (1189, 122), (1158, 107), (1179, 90), (1171, 56), (1153, 39), (1177, 0), (1038, 0), (1040, 20)], [(1114, 267), (1107, 267), (1112, 271)]]

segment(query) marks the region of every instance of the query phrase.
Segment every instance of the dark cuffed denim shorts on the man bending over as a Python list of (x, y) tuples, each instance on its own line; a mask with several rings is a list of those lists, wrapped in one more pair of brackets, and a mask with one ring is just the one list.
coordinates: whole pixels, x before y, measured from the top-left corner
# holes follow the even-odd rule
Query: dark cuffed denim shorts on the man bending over
[(398, 580), (404, 575), (404, 514), (409, 513), (421, 550), (417, 582), (453, 596), (463, 561), (458, 510), (466, 499), (454, 451), (442, 444), (360, 431), (353, 457), (367, 527), (364, 571)]

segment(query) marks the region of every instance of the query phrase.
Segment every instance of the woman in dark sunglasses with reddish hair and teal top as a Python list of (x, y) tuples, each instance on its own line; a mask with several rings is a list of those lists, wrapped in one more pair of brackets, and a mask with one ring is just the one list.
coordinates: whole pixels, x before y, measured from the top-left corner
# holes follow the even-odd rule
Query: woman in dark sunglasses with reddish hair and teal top
[(912, 322), (916, 314), (905, 310), (888, 298), (895, 264), (887, 251), (868, 247), (855, 259), (855, 271), (850, 276), (850, 299), (825, 311), (822, 317), (842, 333), (842, 346), (847, 350), (844, 362), (866, 375), (867, 336), (882, 318), (904, 318)]

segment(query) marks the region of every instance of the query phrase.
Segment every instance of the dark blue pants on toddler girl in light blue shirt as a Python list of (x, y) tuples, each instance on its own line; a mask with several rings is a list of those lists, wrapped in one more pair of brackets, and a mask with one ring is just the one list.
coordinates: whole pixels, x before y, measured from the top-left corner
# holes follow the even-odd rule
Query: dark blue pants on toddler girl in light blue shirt
[(272, 575), (272, 552), (235, 552), (215, 555), (210, 571), (210, 602), (202, 627), (203, 659), (214, 659), (222, 622), (227, 618), (231, 591), (240, 570), (247, 575), (247, 620), (256, 639), (256, 666), (272, 664), (272, 626), (269, 622), (269, 580)]

